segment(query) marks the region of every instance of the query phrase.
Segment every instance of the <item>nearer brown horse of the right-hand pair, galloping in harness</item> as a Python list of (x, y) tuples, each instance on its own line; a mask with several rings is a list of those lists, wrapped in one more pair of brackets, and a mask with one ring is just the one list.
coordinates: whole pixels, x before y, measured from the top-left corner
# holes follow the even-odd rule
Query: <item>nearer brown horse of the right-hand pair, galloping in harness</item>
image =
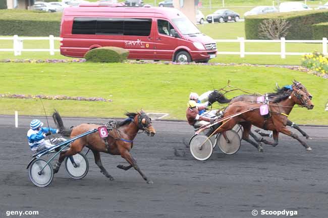
[(297, 134), (292, 133), (286, 128), (288, 115), (292, 111), (295, 104), (307, 107), (307, 109), (313, 109), (314, 107), (311, 102), (312, 96), (307, 92), (306, 88), (304, 86), (299, 86), (300, 83), (297, 83), (295, 81), (293, 83), (293, 90), (290, 93), (285, 93), (280, 96), (277, 96), (274, 101), (269, 103), (270, 117), (268, 119), (264, 118), (259, 113), (259, 107), (262, 104), (244, 101), (234, 102), (226, 108), (223, 117), (229, 117), (237, 113), (241, 114), (232, 118), (227, 118), (227, 121), (223, 122), (222, 126), (215, 130), (215, 133), (230, 130), (237, 123), (239, 123), (244, 128), (242, 139), (253, 144), (253, 146), (255, 146), (259, 151), (261, 151), (261, 146), (249, 138), (251, 126), (255, 125), (259, 128), (273, 131), (275, 142), (261, 140), (266, 144), (277, 146), (279, 132), (282, 132), (297, 139), (306, 148), (307, 151), (311, 151), (311, 148), (304, 141), (302, 141), (297, 136)]

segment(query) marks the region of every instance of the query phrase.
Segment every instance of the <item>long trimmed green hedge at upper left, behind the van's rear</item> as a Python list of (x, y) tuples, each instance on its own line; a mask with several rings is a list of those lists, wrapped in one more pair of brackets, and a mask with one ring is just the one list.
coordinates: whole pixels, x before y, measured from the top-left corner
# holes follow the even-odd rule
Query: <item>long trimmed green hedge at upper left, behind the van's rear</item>
[(26, 10), (1, 10), (0, 35), (59, 36), (61, 16), (62, 13), (46, 13)]

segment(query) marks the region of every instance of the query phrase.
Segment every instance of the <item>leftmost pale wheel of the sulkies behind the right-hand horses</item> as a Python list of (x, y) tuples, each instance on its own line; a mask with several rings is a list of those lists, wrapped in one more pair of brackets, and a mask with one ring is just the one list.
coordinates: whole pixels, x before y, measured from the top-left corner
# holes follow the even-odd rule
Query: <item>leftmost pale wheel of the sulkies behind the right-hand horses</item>
[(213, 153), (213, 144), (206, 135), (194, 135), (190, 141), (190, 152), (195, 159), (205, 161)]

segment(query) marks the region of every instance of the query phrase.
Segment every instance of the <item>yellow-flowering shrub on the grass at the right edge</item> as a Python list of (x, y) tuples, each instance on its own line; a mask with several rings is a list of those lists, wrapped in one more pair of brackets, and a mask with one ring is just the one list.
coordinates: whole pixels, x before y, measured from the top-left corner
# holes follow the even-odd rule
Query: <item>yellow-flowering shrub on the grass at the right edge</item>
[(328, 74), (328, 56), (318, 52), (305, 54), (302, 58), (302, 66), (315, 71), (319, 76), (324, 76)]

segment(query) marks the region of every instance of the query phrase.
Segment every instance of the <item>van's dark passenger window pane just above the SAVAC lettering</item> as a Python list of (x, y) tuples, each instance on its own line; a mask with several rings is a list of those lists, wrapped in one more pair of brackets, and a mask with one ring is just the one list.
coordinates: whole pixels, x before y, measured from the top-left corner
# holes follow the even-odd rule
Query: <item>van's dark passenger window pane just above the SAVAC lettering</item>
[(125, 36), (149, 36), (151, 30), (151, 19), (125, 18)]

